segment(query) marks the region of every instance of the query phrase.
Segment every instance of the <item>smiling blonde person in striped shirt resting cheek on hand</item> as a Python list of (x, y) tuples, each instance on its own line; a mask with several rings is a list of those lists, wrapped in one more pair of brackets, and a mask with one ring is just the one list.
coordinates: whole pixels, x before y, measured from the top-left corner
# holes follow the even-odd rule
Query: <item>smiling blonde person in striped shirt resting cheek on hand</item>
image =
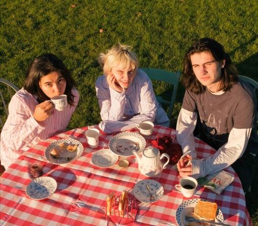
[(102, 119), (99, 127), (107, 134), (134, 128), (145, 120), (169, 125), (151, 81), (138, 69), (138, 58), (131, 49), (118, 44), (98, 58), (104, 72), (95, 83)]

